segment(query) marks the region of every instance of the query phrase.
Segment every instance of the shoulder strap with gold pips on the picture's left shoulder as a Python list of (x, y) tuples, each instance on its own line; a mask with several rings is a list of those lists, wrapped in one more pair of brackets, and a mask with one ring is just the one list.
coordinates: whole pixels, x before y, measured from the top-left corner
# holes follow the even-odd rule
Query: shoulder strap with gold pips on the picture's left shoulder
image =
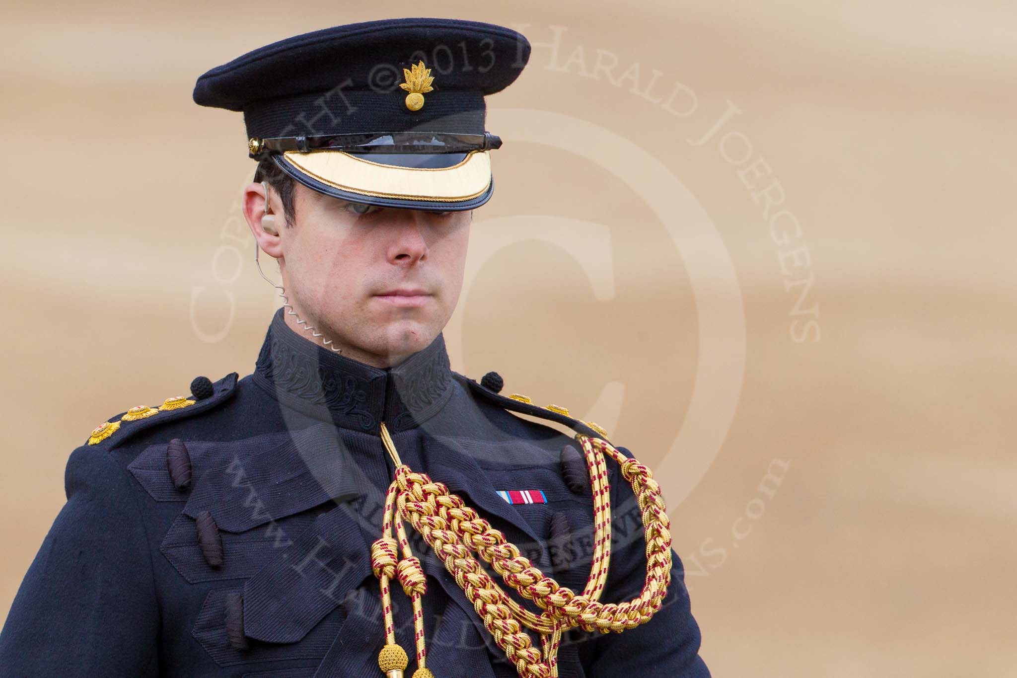
[(163, 400), (162, 405), (138, 405), (120, 413), (93, 429), (84, 445), (103, 445), (112, 449), (156, 424), (186, 419), (212, 410), (233, 395), (238, 376), (236, 372), (231, 372), (219, 381), (196, 377), (191, 381), (190, 395), (174, 395)]

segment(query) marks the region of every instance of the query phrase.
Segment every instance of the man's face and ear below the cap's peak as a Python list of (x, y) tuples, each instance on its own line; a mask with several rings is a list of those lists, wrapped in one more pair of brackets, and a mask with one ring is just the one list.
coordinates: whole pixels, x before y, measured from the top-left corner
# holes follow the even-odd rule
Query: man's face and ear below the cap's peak
[(279, 259), (302, 320), (343, 355), (376, 367), (396, 365), (434, 341), (459, 301), (472, 211), (367, 206), (297, 184), (290, 228), (273, 192), (279, 230), (273, 237), (260, 230), (260, 188), (248, 186), (244, 212), (262, 250)]

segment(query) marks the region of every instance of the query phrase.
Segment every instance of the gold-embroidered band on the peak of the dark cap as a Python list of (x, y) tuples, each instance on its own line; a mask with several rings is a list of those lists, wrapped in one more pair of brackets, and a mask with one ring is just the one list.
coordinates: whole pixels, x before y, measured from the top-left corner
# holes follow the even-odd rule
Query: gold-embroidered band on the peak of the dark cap
[(374, 197), (458, 202), (483, 195), (491, 183), (488, 151), (473, 150), (446, 168), (372, 163), (342, 150), (283, 153), (297, 172), (326, 186)]

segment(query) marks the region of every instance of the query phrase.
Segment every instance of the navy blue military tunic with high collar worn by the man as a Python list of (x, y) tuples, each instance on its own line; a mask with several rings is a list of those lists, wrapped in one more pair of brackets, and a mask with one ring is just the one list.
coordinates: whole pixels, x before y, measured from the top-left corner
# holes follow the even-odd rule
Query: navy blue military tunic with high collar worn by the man
[[(562, 473), (562, 448), (575, 441), (451, 371), (441, 336), (398, 367), (375, 369), (297, 335), (280, 311), (253, 374), (198, 390), (181, 409), (118, 415), (112, 435), (71, 453), (67, 503), (0, 634), (2, 675), (380, 676), (370, 544), (381, 536), (394, 470), (381, 422), (405, 464), (445, 483), (542, 571), (574, 590), (585, 584), (592, 499), (587, 479), (566, 482)], [(643, 587), (646, 543), (631, 487), (613, 461), (608, 469), (613, 552), (601, 601), (619, 603)], [(540, 489), (546, 501), (498, 494), (513, 489)], [(436, 678), (518, 675), (408, 530), (427, 574), (427, 667)], [(681, 562), (672, 559), (670, 589), (649, 623), (564, 634), (562, 678), (709, 676)], [(393, 601), (409, 677), (412, 610), (398, 583)]]

